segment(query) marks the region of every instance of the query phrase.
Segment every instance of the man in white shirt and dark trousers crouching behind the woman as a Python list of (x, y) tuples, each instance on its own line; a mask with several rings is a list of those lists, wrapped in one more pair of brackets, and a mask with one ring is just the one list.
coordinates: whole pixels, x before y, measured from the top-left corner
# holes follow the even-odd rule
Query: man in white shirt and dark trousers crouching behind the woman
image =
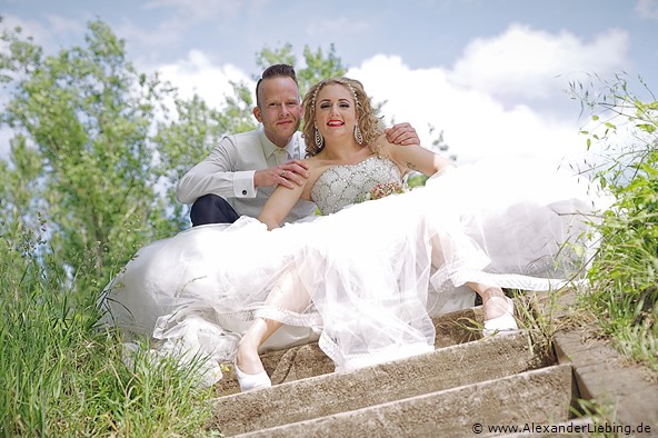
[[(192, 226), (232, 223), (240, 216), (258, 217), (277, 186), (292, 188), (308, 178), (295, 69), (287, 64), (267, 68), (256, 84), (253, 117), (257, 130), (227, 136), (203, 161), (179, 181), (177, 199), (192, 203)], [(420, 143), (409, 123), (386, 130), (390, 142)], [(315, 205), (300, 200), (286, 218), (295, 221), (312, 215)]]

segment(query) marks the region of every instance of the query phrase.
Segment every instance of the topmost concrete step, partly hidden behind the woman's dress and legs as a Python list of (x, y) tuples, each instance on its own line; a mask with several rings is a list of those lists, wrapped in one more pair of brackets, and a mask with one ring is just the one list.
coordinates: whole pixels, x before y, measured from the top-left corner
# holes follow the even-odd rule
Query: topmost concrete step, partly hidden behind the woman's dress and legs
[[(473, 307), (432, 317), (437, 336), (436, 348), (449, 347), (481, 338), (478, 323), (482, 323), (481, 307)], [(268, 351), (261, 355), (262, 365), (272, 385), (295, 381), (333, 372), (333, 362), (317, 342)], [(227, 365), (232, 367), (232, 365)], [(240, 392), (235, 372), (226, 372), (217, 385), (218, 395)]]

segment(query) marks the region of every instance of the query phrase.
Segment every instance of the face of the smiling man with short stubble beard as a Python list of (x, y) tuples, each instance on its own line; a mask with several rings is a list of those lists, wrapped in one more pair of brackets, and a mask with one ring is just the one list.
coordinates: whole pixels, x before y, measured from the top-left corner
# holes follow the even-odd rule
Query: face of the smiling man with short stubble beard
[(262, 123), (265, 135), (278, 147), (290, 142), (299, 129), (299, 89), (291, 78), (265, 79), (258, 90), (260, 104), (253, 116)]

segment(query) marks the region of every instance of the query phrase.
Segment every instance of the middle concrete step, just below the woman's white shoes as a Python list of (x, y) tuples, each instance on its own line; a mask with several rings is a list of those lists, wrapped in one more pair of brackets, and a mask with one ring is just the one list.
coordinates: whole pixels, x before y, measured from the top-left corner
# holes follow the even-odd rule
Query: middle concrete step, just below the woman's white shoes
[[(245, 434), (498, 379), (544, 366), (546, 358), (541, 351), (531, 348), (524, 332), (497, 335), (405, 360), (225, 396), (213, 402), (211, 427), (226, 435)], [(570, 399), (570, 376), (568, 380), (568, 395), (564, 397)]]

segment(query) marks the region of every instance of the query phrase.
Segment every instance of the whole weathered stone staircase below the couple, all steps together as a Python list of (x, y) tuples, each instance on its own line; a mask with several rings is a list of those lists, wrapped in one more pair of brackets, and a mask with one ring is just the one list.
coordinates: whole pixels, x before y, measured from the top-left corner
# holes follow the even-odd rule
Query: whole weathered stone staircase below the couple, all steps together
[(435, 351), (347, 372), (332, 372), (317, 344), (265, 354), (273, 386), (240, 394), (227, 372), (209, 427), (250, 437), (559, 436), (520, 431), (589, 421), (572, 418), (571, 365), (526, 331), (482, 339), (481, 320), (480, 307), (435, 317)]

